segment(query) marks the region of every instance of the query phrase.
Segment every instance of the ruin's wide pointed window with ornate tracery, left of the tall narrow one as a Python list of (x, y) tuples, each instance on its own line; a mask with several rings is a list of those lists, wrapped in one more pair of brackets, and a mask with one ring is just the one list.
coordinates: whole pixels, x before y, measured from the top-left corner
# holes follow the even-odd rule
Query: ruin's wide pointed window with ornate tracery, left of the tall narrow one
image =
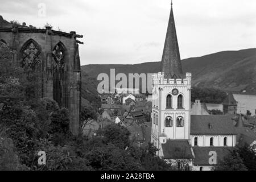
[(32, 69), (33, 71), (42, 69), (42, 54), (35, 40), (28, 40), (21, 49), (20, 55), (22, 68)]

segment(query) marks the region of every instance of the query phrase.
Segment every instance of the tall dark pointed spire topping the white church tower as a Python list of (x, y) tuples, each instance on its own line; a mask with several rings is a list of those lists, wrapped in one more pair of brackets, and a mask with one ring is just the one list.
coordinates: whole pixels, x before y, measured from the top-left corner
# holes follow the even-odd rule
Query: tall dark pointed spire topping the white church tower
[(162, 72), (164, 72), (165, 78), (183, 78), (174, 13), (172, 11), (172, 2), (171, 14), (166, 33), (166, 42), (164, 43), (162, 57)]

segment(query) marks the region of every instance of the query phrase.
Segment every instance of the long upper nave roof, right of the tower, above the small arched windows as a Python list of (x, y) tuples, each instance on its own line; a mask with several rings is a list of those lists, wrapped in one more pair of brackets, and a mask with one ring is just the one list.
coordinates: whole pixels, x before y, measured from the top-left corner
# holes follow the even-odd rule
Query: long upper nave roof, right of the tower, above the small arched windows
[(233, 115), (191, 115), (191, 134), (237, 134)]

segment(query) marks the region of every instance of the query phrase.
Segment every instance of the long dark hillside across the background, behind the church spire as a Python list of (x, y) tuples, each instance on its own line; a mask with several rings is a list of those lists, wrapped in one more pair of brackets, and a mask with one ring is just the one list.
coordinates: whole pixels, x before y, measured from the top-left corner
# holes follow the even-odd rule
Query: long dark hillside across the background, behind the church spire
[[(223, 51), (202, 57), (182, 60), (183, 72), (192, 73), (195, 86), (214, 87), (224, 91), (256, 93), (256, 48), (240, 51)], [(82, 72), (96, 78), (100, 73), (109, 75), (110, 69), (118, 73), (157, 73), (160, 62), (134, 65), (90, 64), (82, 66)], [(85, 78), (84, 78), (85, 79)]]

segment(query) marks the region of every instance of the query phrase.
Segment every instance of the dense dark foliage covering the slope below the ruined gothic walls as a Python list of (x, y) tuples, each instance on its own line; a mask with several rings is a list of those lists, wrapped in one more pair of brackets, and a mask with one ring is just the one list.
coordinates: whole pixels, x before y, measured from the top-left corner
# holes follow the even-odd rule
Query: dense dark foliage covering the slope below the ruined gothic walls
[[(134, 144), (122, 126), (73, 137), (68, 110), (41, 98), (40, 72), (7, 63), (0, 60), (0, 170), (171, 169), (154, 147)], [(96, 119), (96, 110), (82, 107), (81, 117)], [(38, 164), (39, 151), (46, 152), (46, 165)]]

